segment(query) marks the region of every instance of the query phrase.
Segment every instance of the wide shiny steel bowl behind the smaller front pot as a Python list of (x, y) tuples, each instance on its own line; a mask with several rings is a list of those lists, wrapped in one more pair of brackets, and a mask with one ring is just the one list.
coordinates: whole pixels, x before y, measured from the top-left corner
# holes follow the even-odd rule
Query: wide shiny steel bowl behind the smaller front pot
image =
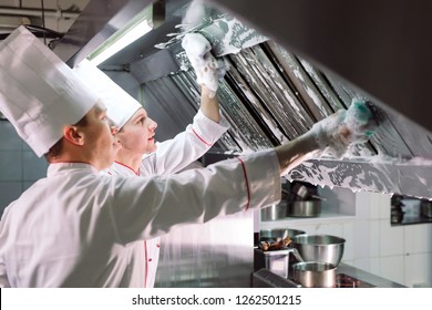
[(305, 261), (322, 261), (338, 266), (343, 256), (344, 239), (330, 235), (298, 235), (291, 238)]

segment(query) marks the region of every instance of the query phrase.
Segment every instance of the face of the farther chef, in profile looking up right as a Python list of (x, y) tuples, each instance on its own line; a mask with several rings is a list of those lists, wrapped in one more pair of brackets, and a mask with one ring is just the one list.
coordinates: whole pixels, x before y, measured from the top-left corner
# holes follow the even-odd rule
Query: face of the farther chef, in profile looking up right
[(140, 107), (117, 133), (123, 149), (144, 155), (156, 151), (154, 140), (157, 123)]

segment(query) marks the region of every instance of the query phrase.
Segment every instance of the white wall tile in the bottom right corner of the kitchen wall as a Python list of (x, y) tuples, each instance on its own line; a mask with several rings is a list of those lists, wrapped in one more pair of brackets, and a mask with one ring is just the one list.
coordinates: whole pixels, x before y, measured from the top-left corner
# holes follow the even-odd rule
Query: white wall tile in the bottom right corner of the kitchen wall
[(426, 285), (432, 287), (431, 259), (431, 254), (415, 254), (405, 257), (403, 268), (407, 286)]

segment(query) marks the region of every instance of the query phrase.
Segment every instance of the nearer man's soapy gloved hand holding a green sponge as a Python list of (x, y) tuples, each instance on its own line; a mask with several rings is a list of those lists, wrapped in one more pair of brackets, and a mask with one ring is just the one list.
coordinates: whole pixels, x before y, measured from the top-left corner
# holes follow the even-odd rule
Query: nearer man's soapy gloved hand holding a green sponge
[(377, 126), (367, 103), (353, 99), (348, 110), (339, 110), (319, 121), (311, 133), (320, 149), (341, 158), (349, 146), (367, 142)]

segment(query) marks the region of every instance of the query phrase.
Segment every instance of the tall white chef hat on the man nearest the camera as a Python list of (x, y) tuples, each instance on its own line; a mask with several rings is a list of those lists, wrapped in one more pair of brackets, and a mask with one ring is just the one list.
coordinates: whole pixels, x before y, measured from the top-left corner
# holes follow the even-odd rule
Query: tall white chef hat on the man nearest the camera
[(0, 111), (40, 157), (97, 102), (61, 59), (24, 27), (0, 43)]

